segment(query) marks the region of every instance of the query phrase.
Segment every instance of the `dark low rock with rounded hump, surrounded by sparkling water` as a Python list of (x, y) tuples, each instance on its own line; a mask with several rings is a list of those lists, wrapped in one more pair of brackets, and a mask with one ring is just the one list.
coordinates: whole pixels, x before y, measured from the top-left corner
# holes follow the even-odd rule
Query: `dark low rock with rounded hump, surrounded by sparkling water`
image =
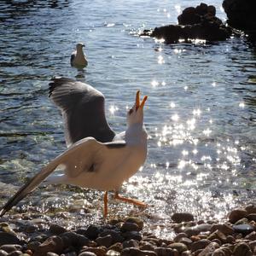
[(212, 42), (230, 38), (230, 27), (224, 26), (222, 20), (215, 15), (214, 6), (201, 3), (195, 8), (184, 9), (177, 17), (178, 25), (155, 27), (153, 31), (145, 30), (142, 35), (164, 38), (167, 44), (180, 40), (189, 42), (192, 39), (203, 39)]

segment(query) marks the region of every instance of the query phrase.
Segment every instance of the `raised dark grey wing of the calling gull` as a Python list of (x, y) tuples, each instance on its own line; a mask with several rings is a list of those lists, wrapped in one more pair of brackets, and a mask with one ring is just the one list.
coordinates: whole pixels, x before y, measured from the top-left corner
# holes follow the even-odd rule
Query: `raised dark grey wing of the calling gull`
[(105, 98), (89, 84), (73, 79), (53, 78), (49, 97), (64, 119), (67, 145), (84, 137), (94, 137), (101, 143), (112, 142), (115, 133), (105, 116)]

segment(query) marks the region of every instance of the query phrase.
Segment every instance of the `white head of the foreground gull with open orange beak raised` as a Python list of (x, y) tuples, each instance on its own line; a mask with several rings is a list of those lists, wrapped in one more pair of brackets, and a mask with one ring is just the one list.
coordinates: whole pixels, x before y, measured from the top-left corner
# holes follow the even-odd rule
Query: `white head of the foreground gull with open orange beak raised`
[(127, 113), (127, 124), (128, 126), (134, 124), (143, 125), (143, 107), (147, 101), (148, 96), (144, 96), (143, 101), (140, 102), (140, 91), (137, 91), (136, 100), (133, 107)]

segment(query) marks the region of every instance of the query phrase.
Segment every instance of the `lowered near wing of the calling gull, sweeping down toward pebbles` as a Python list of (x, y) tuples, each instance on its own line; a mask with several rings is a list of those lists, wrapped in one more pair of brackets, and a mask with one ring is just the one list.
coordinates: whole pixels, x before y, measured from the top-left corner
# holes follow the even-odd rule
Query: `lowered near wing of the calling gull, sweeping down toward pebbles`
[[(38, 174), (32, 177), (32, 179), (21, 187), (0, 210), (0, 217), (14, 207), (26, 195), (36, 189), (38, 185), (49, 176), (49, 174), (55, 171), (57, 166), (63, 165), (69, 169), (69, 172), (66, 173), (67, 177), (78, 176), (80, 172), (84, 172), (84, 168), (90, 172), (90, 166), (93, 166), (95, 161), (99, 161), (97, 158), (104, 157), (102, 155), (99, 156), (97, 152), (100, 150), (106, 150), (106, 148), (108, 148), (106, 146), (107, 145), (104, 143), (97, 142), (92, 137), (86, 137), (78, 143), (74, 143), (63, 154), (60, 154), (55, 158), (55, 160), (49, 162), (49, 164), (45, 166), (41, 172), (38, 172)], [(123, 143), (123, 146), (125, 147), (125, 143)], [(77, 166), (77, 168), (68, 168), (70, 166)], [(87, 183), (88, 182), (90, 183), (90, 181), (87, 181)]]

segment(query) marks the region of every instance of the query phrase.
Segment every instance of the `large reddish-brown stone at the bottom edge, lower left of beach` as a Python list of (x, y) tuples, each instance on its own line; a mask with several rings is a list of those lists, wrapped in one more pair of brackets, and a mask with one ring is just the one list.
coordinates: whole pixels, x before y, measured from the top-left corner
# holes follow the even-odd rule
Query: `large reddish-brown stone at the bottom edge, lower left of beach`
[(64, 244), (60, 236), (50, 236), (37, 247), (34, 255), (43, 256), (46, 255), (46, 253), (48, 252), (60, 254), (62, 253), (63, 248)]

